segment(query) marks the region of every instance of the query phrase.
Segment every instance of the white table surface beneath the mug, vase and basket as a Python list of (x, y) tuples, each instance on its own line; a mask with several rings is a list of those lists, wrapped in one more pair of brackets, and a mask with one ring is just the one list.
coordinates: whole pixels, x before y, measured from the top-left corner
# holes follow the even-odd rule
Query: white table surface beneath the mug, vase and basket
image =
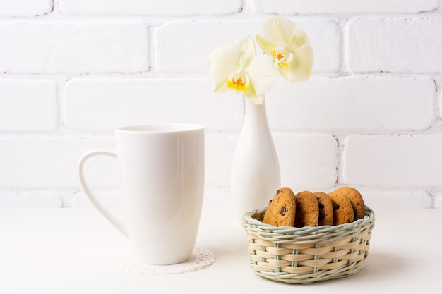
[(0, 293), (442, 293), (442, 209), (374, 209), (359, 273), (292, 285), (251, 270), (245, 231), (217, 201), (204, 205), (196, 241), (215, 263), (169, 275), (124, 269), (128, 241), (93, 208), (0, 209)]

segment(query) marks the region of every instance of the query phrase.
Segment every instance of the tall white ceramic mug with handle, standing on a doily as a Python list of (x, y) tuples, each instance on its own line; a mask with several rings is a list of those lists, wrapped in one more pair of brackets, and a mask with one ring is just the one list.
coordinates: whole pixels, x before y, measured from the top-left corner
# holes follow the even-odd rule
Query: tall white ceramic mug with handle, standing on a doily
[[(78, 162), (92, 204), (129, 238), (145, 264), (177, 264), (191, 257), (204, 190), (201, 125), (133, 125), (115, 130), (116, 152), (92, 150)], [(104, 207), (84, 176), (90, 157), (117, 158), (123, 221)]]

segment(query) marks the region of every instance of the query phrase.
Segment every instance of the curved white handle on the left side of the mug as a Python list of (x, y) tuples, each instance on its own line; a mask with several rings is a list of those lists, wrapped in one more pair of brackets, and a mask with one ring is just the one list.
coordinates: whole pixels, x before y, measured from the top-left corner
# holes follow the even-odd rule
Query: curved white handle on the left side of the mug
[(117, 154), (113, 151), (107, 151), (107, 150), (91, 150), (89, 152), (86, 152), (83, 154), (82, 157), (80, 157), (80, 160), (78, 161), (78, 174), (80, 175), (80, 183), (83, 187), (83, 190), (85, 191), (86, 195), (89, 197), (90, 202), (94, 204), (95, 208), (98, 209), (99, 212), (108, 220), (110, 221), (123, 235), (126, 236), (126, 238), (129, 238), (129, 235), (127, 233), (126, 227), (124, 226), (123, 222), (117, 219), (114, 214), (109, 212), (109, 209), (104, 207), (104, 205), (98, 200), (98, 198), (92, 193), (92, 190), (90, 190), (90, 187), (88, 183), (86, 182), (85, 176), (84, 176), (84, 165), (85, 162), (90, 159), (91, 157), (95, 156), (108, 156), (108, 157), (114, 157), (117, 158)]

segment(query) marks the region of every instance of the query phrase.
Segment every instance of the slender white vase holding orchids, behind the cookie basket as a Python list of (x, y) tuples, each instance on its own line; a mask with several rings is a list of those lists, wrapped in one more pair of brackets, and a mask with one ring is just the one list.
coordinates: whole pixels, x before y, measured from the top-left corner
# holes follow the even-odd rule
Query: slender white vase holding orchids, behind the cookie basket
[(265, 100), (253, 104), (246, 98), (246, 112), (232, 163), (231, 192), (234, 216), (268, 206), (280, 189), (280, 164), (267, 121)]

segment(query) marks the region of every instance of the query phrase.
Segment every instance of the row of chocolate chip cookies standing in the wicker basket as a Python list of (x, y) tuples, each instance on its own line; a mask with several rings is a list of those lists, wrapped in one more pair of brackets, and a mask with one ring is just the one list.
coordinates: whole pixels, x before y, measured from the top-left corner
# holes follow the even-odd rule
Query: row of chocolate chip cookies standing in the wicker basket
[(263, 223), (273, 226), (336, 226), (351, 223), (365, 216), (361, 193), (342, 187), (329, 193), (292, 189), (277, 190), (265, 211)]

